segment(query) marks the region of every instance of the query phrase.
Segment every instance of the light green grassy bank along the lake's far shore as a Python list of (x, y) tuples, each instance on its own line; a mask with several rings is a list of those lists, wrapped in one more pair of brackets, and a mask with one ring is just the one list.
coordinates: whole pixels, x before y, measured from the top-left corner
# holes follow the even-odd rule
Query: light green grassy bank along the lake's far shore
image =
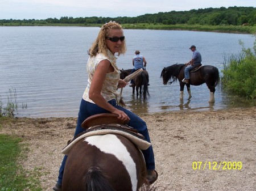
[[(61, 24), (61, 23), (2, 23), (1, 26), (55, 26), (55, 27), (100, 27), (102, 24)], [(156, 30), (183, 30), (183, 31), (207, 31), (207, 32), (225, 32), (225, 33), (256, 33), (256, 26), (207, 26), (207, 25), (189, 25), (189, 24), (157, 24), (157, 23), (136, 23), (122, 24), (126, 29), (156, 29)]]

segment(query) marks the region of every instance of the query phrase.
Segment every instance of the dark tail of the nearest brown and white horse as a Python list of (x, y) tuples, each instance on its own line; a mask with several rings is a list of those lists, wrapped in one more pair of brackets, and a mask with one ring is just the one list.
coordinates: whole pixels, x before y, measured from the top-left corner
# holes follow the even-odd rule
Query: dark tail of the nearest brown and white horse
[(88, 191), (114, 191), (106, 176), (98, 167), (90, 167), (85, 177)]

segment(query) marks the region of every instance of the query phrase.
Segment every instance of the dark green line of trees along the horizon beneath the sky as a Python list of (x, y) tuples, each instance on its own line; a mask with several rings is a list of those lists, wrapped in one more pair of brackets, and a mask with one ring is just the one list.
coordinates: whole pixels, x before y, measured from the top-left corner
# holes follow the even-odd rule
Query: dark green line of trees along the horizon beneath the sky
[(158, 12), (156, 14), (144, 14), (136, 17), (79, 17), (62, 16), (60, 19), (0, 19), (1, 25), (5, 23), (30, 23), (30, 24), (104, 24), (115, 20), (121, 24), (154, 23), (154, 24), (200, 24), (200, 25), (233, 25), (254, 26), (256, 24), (256, 7), (220, 7), (206, 9), (192, 9), (189, 11)]

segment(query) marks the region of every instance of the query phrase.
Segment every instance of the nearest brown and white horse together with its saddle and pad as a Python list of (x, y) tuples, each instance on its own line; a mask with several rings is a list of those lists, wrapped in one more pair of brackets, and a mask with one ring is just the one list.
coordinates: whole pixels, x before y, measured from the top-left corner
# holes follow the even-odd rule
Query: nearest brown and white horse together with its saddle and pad
[(143, 135), (112, 113), (91, 116), (82, 127), (86, 130), (62, 151), (68, 155), (63, 191), (137, 191), (148, 186), (139, 148), (147, 149), (151, 143)]

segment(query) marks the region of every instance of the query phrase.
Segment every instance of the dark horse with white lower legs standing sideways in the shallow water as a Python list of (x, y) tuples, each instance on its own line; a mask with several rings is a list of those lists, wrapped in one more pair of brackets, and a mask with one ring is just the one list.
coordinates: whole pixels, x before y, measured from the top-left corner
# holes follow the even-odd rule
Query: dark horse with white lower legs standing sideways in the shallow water
[[(172, 82), (179, 80), (180, 99), (182, 100), (185, 85), (187, 86), (187, 90), (188, 90), (188, 95), (189, 95), (188, 99), (190, 99), (191, 98), (190, 85), (199, 86), (203, 83), (206, 83), (207, 87), (210, 90), (209, 103), (214, 103), (215, 87), (217, 86), (220, 80), (217, 67), (210, 66), (210, 65), (201, 66), (198, 70), (193, 71), (189, 74), (190, 80), (188, 84), (181, 82), (181, 80), (184, 79), (184, 69), (185, 69), (185, 64), (175, 64), (168, 67), (164, 67), (160, 76), (163, 78), (163, 84), (166, 85), (168, 81), (171, 79), (172, 79)], [(168, 84), (171, 84), (172, 82), (169, 82)]]

